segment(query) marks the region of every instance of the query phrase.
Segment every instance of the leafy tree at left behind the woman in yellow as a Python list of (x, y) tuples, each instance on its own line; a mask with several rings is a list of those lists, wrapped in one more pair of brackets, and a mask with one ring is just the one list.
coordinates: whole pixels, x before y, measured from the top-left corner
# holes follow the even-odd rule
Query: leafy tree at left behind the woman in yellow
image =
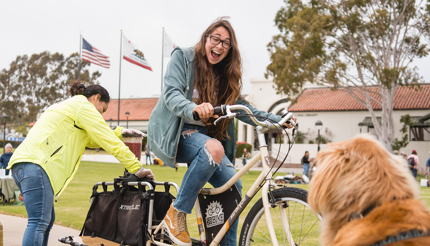
[[(98, 84), (100, 72), (89, 74), (90, 63), (82, 61), (81, 80)], [(68, 85), (78, 78), (79, 54), (44, 51), (17, 56), (9, 69), (0, 71), (0, 110), (9, 115), (9, 127), (32, 122), (47, 106), (68, 97)]]

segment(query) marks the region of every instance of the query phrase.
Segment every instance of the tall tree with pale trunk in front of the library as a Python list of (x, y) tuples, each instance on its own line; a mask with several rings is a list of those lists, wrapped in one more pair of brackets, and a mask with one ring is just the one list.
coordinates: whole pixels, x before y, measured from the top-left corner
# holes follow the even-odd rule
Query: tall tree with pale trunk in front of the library
[[(394, 140), (396, 89), (422, 78), (428, 55), (430, 3), (414, 0), (285, 0), (275, 17), (281, 34), (268, 44), (278, 93), (294, 98), (309, 81), (343, 89), (367, 107), (387, 149)], [(375, 86), (369, 89), (369, 86)], [(381, 124), (374, 105), (381, 107)]]

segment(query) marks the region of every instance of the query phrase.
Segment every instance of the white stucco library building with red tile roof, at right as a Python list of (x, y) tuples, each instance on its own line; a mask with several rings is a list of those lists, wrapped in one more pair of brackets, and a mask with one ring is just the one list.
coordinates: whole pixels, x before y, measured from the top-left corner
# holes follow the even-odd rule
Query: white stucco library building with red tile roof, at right
[[(251, 84), (251, 93), (246, 98), (247, 100), (255, 104), (258, 109), (275, 114), (283, 109), (288, 109), (298, 118), (299, 130), (302, 132), (313, 131), (314, 137), (317, 136), (315, 122), (318, 120), (323, 123), (322, 135), (325, 134), (326, 128), (332, 132), (332, 142), (350, 139), (359, 134), (360, 131), (376, 136), (369, 111), (343, 90), (334, 91), (328, 87), (307, 85), (295, 103), (291, 105), (286, 96), (276, 94), (271, 79), (254, 78), (251, 80)], [(374, 87), (374, 89), (377, 88)], [(376, 115), (380, 116), (381, 110), (376, 104), (374, 109)], [(399, 139), (402, 137), (399, 131), (402, 127), (399, 122), (400, 116), (407, 113), (411, 115), (414, 127), (408, 127), (410, 142), (401, 151), (410, 154), (412, 149), (416, 149), (420, 158), (420, 166), (425, 168), (425, 162), (429, 158), (430, 150), (430, 84), (422, 84), (421, 90), (399, 87), (396, 91), (393, 118), (395, 137)], [(359, 123), (363, 125), (361, 130)], [(238, 141), (254, 144), (253, 127), (243, 124), (241, 121), (239, 121), (238, 126)], [(276, 130), (271, 130), (266, 134), (266, 141), (273, 153), (277, 153), (277, 149), (279, 149), (279, 144), (274, 144), (277, 135)], [(323, 149), (325, 146), (326, 144), (322, 144), (321, 148)], [(310, 152), (311, 157), (315, 157), (317, 144), (296, 143), (286, 162), (300, 163), (300, 159), (306, 150)], [(288, 144), (281, 144), (280, 156), (285, 156), (287, 152)]]

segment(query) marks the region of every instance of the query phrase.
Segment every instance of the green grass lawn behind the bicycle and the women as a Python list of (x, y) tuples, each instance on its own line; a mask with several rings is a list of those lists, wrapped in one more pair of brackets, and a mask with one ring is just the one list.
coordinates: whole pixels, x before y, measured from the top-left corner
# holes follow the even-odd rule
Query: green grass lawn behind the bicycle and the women
[[(174, 168), (155, 165), (145, 165), (145, 168), (151, 168), (157, 181), (172, 181), (179, 186), (181, 185), (182, 177), (184, 177), (184, 173), (187, 170), (187, 168), (180, 167), (178, 168), (178, 172), (175, 172)], [(89, 198), (94, 184), (99, 181), (113, 181), (115, 177), (123, 175), (123, 171), (124, 168), (120, 164), (81, 162), (74, 179), (70, 182), (61, 196), (58, 197), (57, 202), (54, 203), (56, 217), (55, 224), (80, 230), (89, 209)], [(259, 174), (259, 171), (250, 171), (249, 174), (245, 174), (244, 177), (242, 177), (243, 193), (246, 193)], [(284, 174), (277, 173), (276, 175)], [(421, 177), (418, 177), (417, 180), (421, 180)], [(307, 184), (291, 184), (289, 186), (299, 187), (305, 190), (308, 189)], [(210, 185), (208, 184), (207, 187), (210, 187)], [(157, 187), (157, 190), (161, 191), (163, 189), (164, 187)], [(101, 190), (102, 189), (99, 188), (99, 191)], [(176, 196), (175, 189), (171, 189), (170, 191), (174, 196)], [(257, 194), (240, 216), (239, 231), (249, 209), (251, 209), (252, 205), (260, 197), (261, 194)], [(430, 189), (427, 187), (421, 187), (420, 197), (424, 204), (426, 204), (427, 207), (430, 207)], [(6, 203), (6, 206), (0, 206), (0, 213), (27, 217), (24, 206), (13, 206), (11, 203)], [(198, 238), (197, 221), (194, 211), (191, 215), (187, 216), (187, 223), (191, 237)]]

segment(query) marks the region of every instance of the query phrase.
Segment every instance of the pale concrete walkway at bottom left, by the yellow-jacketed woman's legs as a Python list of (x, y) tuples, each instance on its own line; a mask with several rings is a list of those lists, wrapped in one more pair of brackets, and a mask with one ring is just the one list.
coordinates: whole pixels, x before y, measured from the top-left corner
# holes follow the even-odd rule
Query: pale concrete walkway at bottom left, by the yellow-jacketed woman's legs
[[(21, 246), (22, 237), (27, 227), (27, 218), (0, 214), (0, 222), (3, 224), (3, 245)], [(58, 238), (68, 236), (77, 237), (79, 234), (80, 230), (54, 224), (49, 234), (48, 245), (64, 246), (64, 243), (58, 242)]]

